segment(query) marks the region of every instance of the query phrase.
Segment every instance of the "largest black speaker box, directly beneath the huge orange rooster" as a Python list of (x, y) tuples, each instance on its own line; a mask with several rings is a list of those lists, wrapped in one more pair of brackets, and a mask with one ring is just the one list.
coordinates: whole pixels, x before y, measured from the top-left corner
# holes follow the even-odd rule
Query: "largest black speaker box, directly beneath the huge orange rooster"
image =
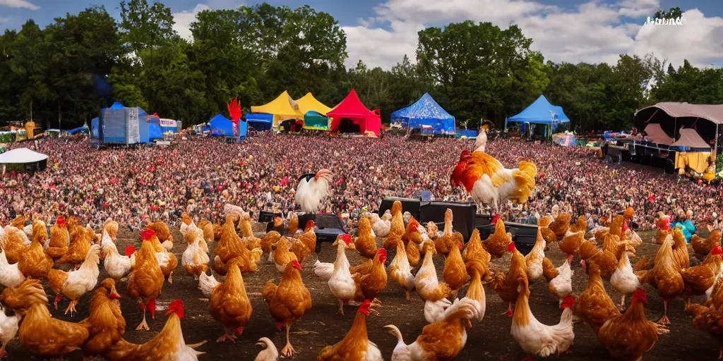
[(452, 209), (452, 227), (460, 232), (465, 240), (469, 240), (476, 223), (477, 205), (474, 203), (454, 203), (445, 201), (432, 201), (422, 204), (419, 222), (435, 222), (440, 230), (445, 227), (445, 212)]

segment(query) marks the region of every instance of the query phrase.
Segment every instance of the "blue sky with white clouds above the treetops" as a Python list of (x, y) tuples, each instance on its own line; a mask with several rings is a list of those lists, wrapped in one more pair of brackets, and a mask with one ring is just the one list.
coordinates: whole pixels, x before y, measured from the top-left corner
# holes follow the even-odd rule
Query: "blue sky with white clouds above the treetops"
[[(201, 1), (201, 2), (199, 2)], [(242, 0), (166, 0), (179, 35), (192, 40), (189, 25), (205, 9), (253, 5)], [(515, 24), (546, 60), (615, 64), (620, 53), (653, 53), (674, 66), (723, 66), (721, 0), (268, 0), (273, 5), (304, 4), (328, 12), (344, 32), (348, 59), (390, 69), (406, 54), (414, 61), (417, 32), (429, 26), (474, 20), (502, 28)], [(18, 29), (27, 19), (40, 26), (77, 13), (89, 4), (106, 6), (119, 17), (117, 0), (0, 0), (0, 28)], [(680, 6), (683, 25), (645, 24), (659, 9)]]

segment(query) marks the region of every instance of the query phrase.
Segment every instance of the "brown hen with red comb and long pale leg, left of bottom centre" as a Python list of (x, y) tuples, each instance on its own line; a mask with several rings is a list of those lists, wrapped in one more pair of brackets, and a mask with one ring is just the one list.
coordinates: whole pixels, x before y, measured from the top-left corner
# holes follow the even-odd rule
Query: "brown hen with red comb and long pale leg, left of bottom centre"
[(294, 347), (291, 347), (288, 339), (291, 323), (299, 320), (312, 308), (312, 295), (301, 281), (299, 261), (294, 260), (286, 265), (278, 286), (271, 281), (266, 282), (261, 295), (269, 305), (271, 317), (276, 320), (276, 328), (281, 331), (281, 327), (286, 325), (286, 346), (281, 349), (281, 355), (293, 356)]

